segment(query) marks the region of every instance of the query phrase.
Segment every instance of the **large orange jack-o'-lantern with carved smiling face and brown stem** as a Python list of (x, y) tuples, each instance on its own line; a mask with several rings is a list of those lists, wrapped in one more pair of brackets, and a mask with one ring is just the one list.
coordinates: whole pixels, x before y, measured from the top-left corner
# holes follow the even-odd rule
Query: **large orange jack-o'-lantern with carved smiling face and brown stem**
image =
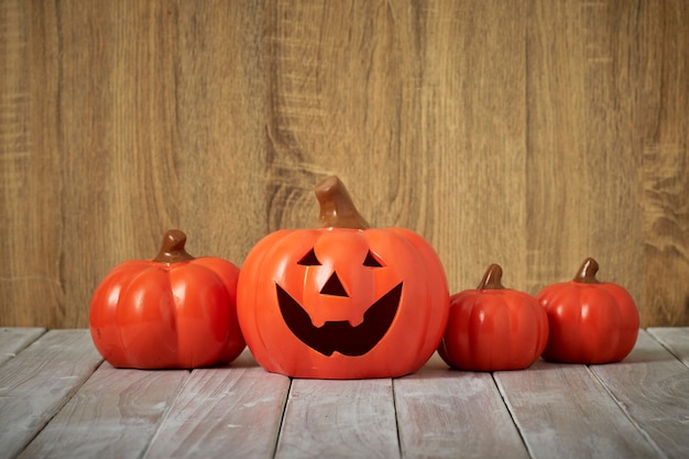
[(239, 321), (267, 371), (295, 378), (394, 378), (438, 347), (449, 312), (442, 265), (417, 233), (371, 229), (338, 177), (316, 186), (316, 229), (280, 230), (251, 250)]

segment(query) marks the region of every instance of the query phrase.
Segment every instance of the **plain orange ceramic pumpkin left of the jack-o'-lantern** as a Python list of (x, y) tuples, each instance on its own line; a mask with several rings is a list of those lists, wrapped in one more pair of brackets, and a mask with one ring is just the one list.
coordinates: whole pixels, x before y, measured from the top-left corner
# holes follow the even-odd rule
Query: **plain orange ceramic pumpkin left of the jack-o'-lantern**
[(193, 369), (231, 362), (244, 349), (239, 269), (215, 256), (194, 258), (185, 242), (184, 232), (167, 231), (155, 259), (121, 263), (96, 288), (91, 338), (113, 367)]

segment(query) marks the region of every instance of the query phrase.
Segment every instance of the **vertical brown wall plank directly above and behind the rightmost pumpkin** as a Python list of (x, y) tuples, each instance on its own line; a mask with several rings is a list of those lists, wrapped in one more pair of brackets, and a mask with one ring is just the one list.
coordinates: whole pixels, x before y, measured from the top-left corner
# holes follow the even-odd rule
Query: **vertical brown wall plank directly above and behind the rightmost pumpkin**
[(635, 131), (655, 123), (631, 95), (641, 81), (656, 80), (634, 78), (645, 70), (635, 65), (638, 47), (628, 45), (638, 40), (637, 4), (528, 4), (524, 289), (535, 294), (571, 280), (591, 255), (601, 264), (599, 278), (638, 299), (644, 220), (634, 210), (642, 163)]

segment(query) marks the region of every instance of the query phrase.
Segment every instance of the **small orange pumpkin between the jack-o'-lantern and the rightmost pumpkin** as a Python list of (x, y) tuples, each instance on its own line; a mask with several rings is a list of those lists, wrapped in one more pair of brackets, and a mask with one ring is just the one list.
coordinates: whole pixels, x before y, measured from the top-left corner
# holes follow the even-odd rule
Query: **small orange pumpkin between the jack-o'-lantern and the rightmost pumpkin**
[(548, 340), (548, 317), (532, 295), (505, 288), (491, 264), (475, 289), (450, 297), (450, 318), (438, 353), (460, 370), (522, 370)]

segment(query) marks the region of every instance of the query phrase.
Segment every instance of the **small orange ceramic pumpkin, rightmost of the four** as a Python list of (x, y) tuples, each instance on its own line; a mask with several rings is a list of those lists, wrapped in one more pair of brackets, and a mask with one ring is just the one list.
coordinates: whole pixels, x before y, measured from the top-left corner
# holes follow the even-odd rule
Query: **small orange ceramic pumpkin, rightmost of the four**
[(544, 359), (619, 362), (634, 348), (639, 325), (634, 299), (622, 286), (599, 282), (598, 270), (589, 258), (572, 281), (549, 285), (536, 295), (550, 327)]

